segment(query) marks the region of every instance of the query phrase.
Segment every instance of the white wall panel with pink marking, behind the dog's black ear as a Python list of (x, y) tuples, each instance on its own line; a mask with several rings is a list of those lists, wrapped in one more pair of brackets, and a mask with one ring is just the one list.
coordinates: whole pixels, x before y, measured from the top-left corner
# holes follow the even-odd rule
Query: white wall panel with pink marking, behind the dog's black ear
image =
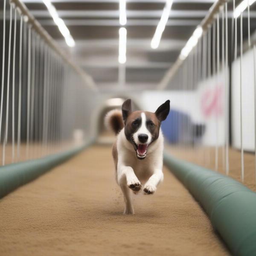
[[(216, 90), (219, 92), (217, 113), (216, 106), (211, 106)], [(169, 99), (172, 109), (187, 113), (194, 123), (206, 125), (202, 143), (215, 146), (217, 136), (218, 145), (224, 145), (225, 142), (224, 96), (224, 79), (223, 75), (221, 75), (218, 79), (213, 77), (202, 82), (196, 91), (168, 90), (143, 92), (141, 102), (145, 110), (154, 112), (163, 102)], [(208, 111), (205, 111), (205, 108)]]

